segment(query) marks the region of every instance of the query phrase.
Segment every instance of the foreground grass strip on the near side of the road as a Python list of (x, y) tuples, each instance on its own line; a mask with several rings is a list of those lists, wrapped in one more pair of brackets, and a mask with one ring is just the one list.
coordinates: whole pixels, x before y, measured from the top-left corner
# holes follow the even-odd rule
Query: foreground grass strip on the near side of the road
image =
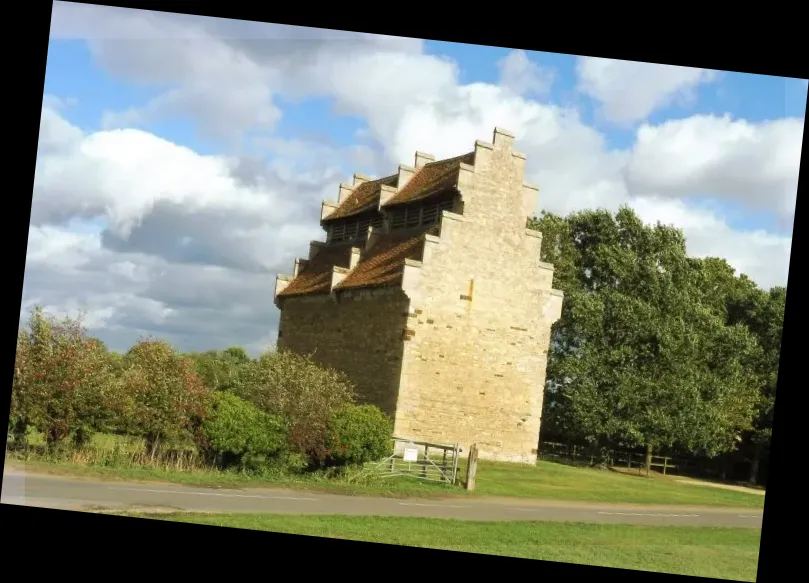
[[(143, 516), (143, 515), (139, 515)], [(433, 518), (169, 514), (158, 520), (755, 581), (761, 532), (746, 528)]]

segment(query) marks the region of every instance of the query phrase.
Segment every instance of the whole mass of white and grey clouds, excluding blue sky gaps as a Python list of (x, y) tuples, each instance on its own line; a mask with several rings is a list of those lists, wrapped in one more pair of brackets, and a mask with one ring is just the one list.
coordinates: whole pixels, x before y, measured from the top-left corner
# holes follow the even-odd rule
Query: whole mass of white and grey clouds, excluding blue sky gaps
[[(537, 70), (519, 51), (501, 61), (499, 84), (462, 84), (456, 63), (413, 39), (58, 2), (53, 26), (56, 37), (87, 40), (107, 71), (170, 87), (112, 112), (95, 133), (69, 123), (56, 100), (43, 107), (23, 308), (86, 310), (111, 344), (156, 334), (188, 349), (267, 346), (274, 276), (322, 237), (320, 201), (338, 182), (352, 169), (380, 175), (412, 163), (416, 150), (467, 152), (495, 126), (516, 132), (526, 179), (540, 186), (537, 210), (629, 203), (647, 221), (683, 228), (691, 253), (727, 257), (764, 286), (785, 283), (788, 235), (735, 230), (689, 199), (790, 216), (802, 120), (647, 124), (632, 147), (614, 150), (576, 109), (535, 96)], [(587, 62), (582, 78), (595, 80), (590, 90), (617, 120), (643, 119), (712, 75)], [(611, 83), (636, 95), (621, 105)], [(206, 101), (194, 101), (201, 88)], [(255, 156), (205, 156), (130, 127), (183, 111), (212, 133), (266, 129), (274, 96), (332, 100), (365, 122), (362, 143), (269, 133), (253, 140)]]

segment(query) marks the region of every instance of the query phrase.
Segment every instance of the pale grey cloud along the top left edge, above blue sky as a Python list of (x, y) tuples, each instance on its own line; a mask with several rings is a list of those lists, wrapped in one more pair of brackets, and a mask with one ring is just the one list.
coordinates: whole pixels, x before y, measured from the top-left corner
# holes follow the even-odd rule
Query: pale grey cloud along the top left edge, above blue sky
[(414, 39), (65, 2), (54, 2), (51, 38), (85, 40), (116, 76), (169, 87), (147, 104), (105, 112), (105, 127), (182, 115), (204, 137), (232, 141), (275, 126), (277, 91), (322, 90), (332, 80), (324, 60), (421, 47)]

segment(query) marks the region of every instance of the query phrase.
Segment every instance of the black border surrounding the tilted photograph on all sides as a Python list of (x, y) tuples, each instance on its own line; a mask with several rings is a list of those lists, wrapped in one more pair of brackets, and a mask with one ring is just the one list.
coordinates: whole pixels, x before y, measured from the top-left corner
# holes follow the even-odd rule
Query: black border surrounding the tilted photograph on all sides
[[(588, 17), (592, 16), (602, 23), (602, 26), (588, 27), (586, 34), (574, 37), (570, 27), (559, 27), (553, 24), (553, 21), (570, 22), (569, 17), (563, 13), (557, 15), (556, 11), (550, 11), (550, 7), (542, 5), (528, 5), (527, 8), (523, 8), (525, 15), (532, 15), (533, 18), (519, 21), (513, 18), (498, 19), (498, 15), (492, 13), (494, 11), (485, 9), (485, 4), (479, 5), (484, 7), (482, 11), (473, 11), (470, 6), (456, 7), (454, 5), (418, 3), (410, 6), (388, 5), (377, 7), (376, 10), (369, 10), (366, 7), (359, 11), (352, 10), (350, 5), (331, 5), (330, 7), (335, 10), (329, 13), (320, 6), (318, 6), (318, 10), (312, 10), (311, 6), (296, 8), (295, 5), (290, 4), (274, 6), (272, 3), (240, 3), (232, 0), (223, 3), (221, 7), (217, 7), (213, 2), (202, 1), (193, 3), (188, 1), (91, 3), (557, 53), (598, 55), (608, 58), (783, 77), (807, 78), (808, 76), (804, 62), (795, 57), (799, 54), (799, 47), (803, 44), (799, 41), (800, 19), (791, 16), (787, 9), (782, 9), (780, 13), (774, 14), (769, 19), (764, 13), (751, 14), (754, 17), (753, 26), (745, 26), (742, 18), (744, 14), (729, 14), (729, 12), (738, 13), (741, 10), (740, 5), (720, 9), (713, 13), (707, 11), (705, 5), (701, 5), (702, 11), (699, 14), (684, 15), (679, 19), (677, 15), (666, 14), (662, 18), (657, 16), (651, 21), (647, 21), (648, 23), (642, 23), (640, 19), (630, 21), (621, 14), (617, 14), (619, 18), (610, 20), (609, 16), (615, 14), (615, 5), (611, 6), (611, 14), (605, 11), (603, 15), (597, 13), (597, 7), (588, 8), (589, 14), (585, 13), (583, 20), (586, 22), (589, 20)], [(445, 6), (450, 9), (442, 10)], [(23, 198), (21, 202), (16, 201), (13, 205), (16, 216), (7, 215), (9, 220), (7, 228), (13, 231), (12, 237), (20, 242), (19, 245), (16, 242), (13, 243), (16, 255), (12, 253), (7, 255), (7, 265), (13, 268), (12, 279), (19, 282), (16, 297), (20, 301), (22, 300), (22, 280), (25, 272), (28, 223), (30, 221), (30, 199), (25, 195), (31, 193), (33, 189), (51, 7), (52, 2), (20, 3), (17, 6), (18, 9), (28, 11), (30, 16), (29, 19), (23, 19), (20, 16), (13, 18), (19, 23), (30, 22), (31, 27), (27, 34), (11, 37), (14, 43), (21, 42), (18, 39), (24, 39), (26, 44), (24, 50), (13, 50), (11, 58), (6, 61), (7, 65), (10, 64), (12, 69), (16, 69), (15, 74), (6, 74), (6, 78), (12, 81), (9, 87), (16, 87), (16, 91), (6, 90), (6, 95), (12, 97), (14, 105), (12, 110), (7, 110), (13, 111), (13, 115), (7, 119), (22, 122), (28, 128), (12, 134), (16, 147), (8, 150), (13, 153), (13, 159), (16, 160), (13, 165), (9, 166), (15, 170), (11, 177), (15, 179), (14, 182), (17, 178), (23, 182), (22, 186), (9, 191), (11, 200), (18, 199), (20, 193)], [(668, 7), (655, 6), (655, 8), (666, 10)], [(394, 15), (388, 16), (386, 13), (389, 10), (394, 12)], [(296, 12), (300, 12), (300, 14), (296, 14)], [(441, 14), (442, 12), (444, 14)], [(543, 12), (545, 16), (543, 16)], [(671, 12), (671, 10), (669, 9), (667, 12)], [(478, 17), (477, 20), (480, 24), (473, 27), (475, 16), (478, 14), (483, 18)], [(712, 19), (714, 14), (717, 18)], [(498, 20), (501, 22), (495, 24)], [(622, 26), (624, 22), (627, 24)], [(629, 24), (630, 22), (631, 24)], [(456, 24), (453, 26), (452, 23)], [(461, 26), (460, 23), (463, 25)], [(608, 26), (604, 26), (607, 23), (609, 23)], [(663, 23), (668, 26), (663, 26)], [(768, 35), (768, 32), (771, 32), (772, 35)], [(520, 36), (523, 37), (522, 41), (518, 40)], [(700, 36), (704, 37), (704, 40)], [(770, 36), (781, 42), (769, 40)], [(792, 39), (795, 40), (794, 43), (789, 42)], [(620, 40), (625, 42), (620, 42)], [(779, 52), (784, 53), (783, 56), (779, 55)], [(11, 125), (7, 121), (6, 127)], [(24, 139), (18, 139), (20, 137)], [(23, 175), (19, 171), (23, 167), (28, 168), (30, 174)], [(801, 184), (802, 181), (799, 179), (799, 193), (802, 190)], [(800, 195), (798, 203), (800, 203)], [(800, 205), (797, 204), (796, 222), (799, 208)], [(795, 270), (797, 257), (794, 250), (799, 248), (797, 243), (800, 240), (801, 230), (793, 228), (791, 271)], [(792, 497), (789, 493), (790, 487), (795, 487), (799, 482), (795, 479), (797, 478), (795, 469), (801, 461), (796, 448), (795, 454), (793, 454), (794, 462), (790, 464), (793, 461), (790, 459), (792, 457), (790, 451), (793, 443), (802, 443), (805, 439), (801, 439), (797, 434), (791, 438), (787, 436), (787, 432), (800, 423), (797, 418), (790, 419), (790, 415), (794, 415), (794, 412), (801, 411), (797, 396), (802, 387), (800, 385), (796, 387), (797, 383), (790, 382), (792, 378), (800, 379), (800, 370), (793, 364), (800, 331), (797, 325), (797, 303), (801, 298), (800, 281), (798, 278), (788, 280), (790, 293), (786, 313), (790, 317), (784, 322), (779, 396), (775, 413), (777, 429), (774, 425), (757, 581), (777, 580), (776, 567), (781, 567), (779, 570), (785, 574), (794, 572), (789, 567), (798, 567), (795, 559), (801, 558), (800, 551), (793, 549), (793, 545), (789, 543), (803, 537), (787, 534), (786, 528), (781, 530), (777, 526), (779, 523), (782, 528), (785, 524), (789, 525), (789, 522), (778, 520), (777, 506), (782, 506), (784, 513), (791, 511), (793, 515), (803, 510), (801, 499), (798, 496)], [(14, 305), (14, 302), (11, 304)], [(6, 354), (9, 358), (6, 370), (12, 375), (14, 344), (19, 326), (18, 315), (19, 312), (10, 313), (11, 321), (8, 323), (6, 333), (8, 338)], [(800, 380), (798, 382), (800, 383)], [(6, 386), (9, 387), (7, 390), (10, 397), (11, 385)], [(7, 423), (8, 404), (8, 398), (0, 404), (0, 423)], [(780, 502), (776, 503), (775, 498), (778, 498)], [(790, 502), (786, 501), (788, 498), (794, 500), (791, 503), (794, 506), (792, 509), (789, 506)], [(384, 564), (389, 561), (391, 566), (405, 563), (424, 566), (433, 562), (442, 563), (450, 572), (461, 577), (464, 576), (464, 571), (472, 565), (478, 572), (486, 565), (490, 570), (503, 570), (509, 574), (516, 574), (525, 568), (532, 577), (559, 573), (584, 577), (588, 575), (605, 578), (616, 576), (625, 581), (645, 581), (650, 577), (661, 581), (666, 580), (666, 577), (674, 577), (677, 580), (698, 579), (644, 571), (529, 561), (319, 537), (257, 533), (239, 529), (212, 528), (33, 507), (0, 505), (0, 509), (2, 510), (0, 526), (11, 535), (11, 537), (6, 537), (7, 542), (3, 555), (20, 559), (24, 555), (29, 555), (29, 552), (26, 551), (30, 551), (31, 555), (33, 553), (41, 554), (41, 560), (34, 562), (29, 560), (16, 565), (30, 569), (31, 574), (36, 575), (48, 572), (66, 574), (77, 569), (80, 576), (115, 576), (122, 571), (122, 567), (126, 566), (128, 569), (143, 569), (147, 571), (147, 576), (169, 575), (175, 572), (186, 575), (192, 573), (213, 576), (219, 573), (235, 575), (240, 572), (247, 573), (257, 570), (259, 577), (271, 577), (275, 573), (281, 573), (277, 566), (272, 565), (272, 560), (274, 556), (283, 553), (285, 556), (303, 555), (298, 559), (299, 561), (314, 559), (323, 565), (324, 571), (315, 573), (316, 577), (321, 573), (327, 575), (335, 573), (334, 567), (339, 567), (343, 573), (346, 568), (353, 570), (352, 563), (359, 559), (366, 565), (377, 561), (382, 563), (380, 570), (376, 571), (379, 573), (377, 576), (384, 576), (383, 573), (387, 571)], [(798, 529), (801, 527), (800, 524), (796, 526)], [(8, 541), (22, 543), (23, 546), (19, 547), (18, 554), (12, 551)], [(37, 559), (39, 558), (37, 557)], [(373, 561), (369, 560), (371, 558)], [(15, 562), (6, 561), (6, 565), (14, 565)], [(109, 570), (100, 570), (99, 567), (102, 564), (109, 564)], [(800, 567), (798, 567), (798, 572), (800, 572)], [(294, 571), (291, 576), (296, 576)]]

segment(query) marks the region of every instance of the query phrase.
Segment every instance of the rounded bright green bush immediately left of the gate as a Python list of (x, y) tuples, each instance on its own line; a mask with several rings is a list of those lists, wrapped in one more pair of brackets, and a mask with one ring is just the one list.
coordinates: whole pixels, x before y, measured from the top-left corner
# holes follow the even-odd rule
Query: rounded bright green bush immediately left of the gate
[(342, 407), (328, 420), (326, 447), (330, 465), (362, 465), (390, 454), (393, 424), (373, 405)]

